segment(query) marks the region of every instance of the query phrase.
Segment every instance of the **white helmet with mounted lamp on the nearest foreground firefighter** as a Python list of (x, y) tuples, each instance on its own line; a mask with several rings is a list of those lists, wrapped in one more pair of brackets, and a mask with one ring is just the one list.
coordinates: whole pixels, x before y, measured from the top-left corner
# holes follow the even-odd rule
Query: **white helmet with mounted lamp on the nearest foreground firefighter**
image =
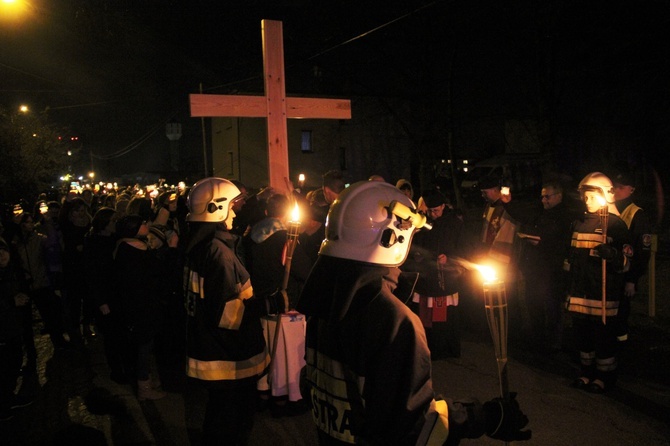
[(407, 258), (414, 231), (425, 221), (400, 189), (361, 181), (344, 189), (331, 205), (319, 254), (399, 266)]

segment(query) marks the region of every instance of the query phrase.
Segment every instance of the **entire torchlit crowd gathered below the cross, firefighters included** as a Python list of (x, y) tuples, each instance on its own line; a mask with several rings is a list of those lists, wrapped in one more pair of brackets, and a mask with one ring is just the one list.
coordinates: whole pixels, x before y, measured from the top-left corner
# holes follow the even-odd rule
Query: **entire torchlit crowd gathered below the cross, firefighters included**
[[(379, 175), (348, 185), (336, 170), (309, 192), (205, 178), (17, 205), (0, 234), (1, 418), (30, 404), (14, 390), (19, 374), (35, 373), (34, 304), (55, 351), (100, 335), (110, 377), (140, 401), (166, 395), (157, 362), (182, 364), (208, 391), (203, 444), (245, 444), (268, 406), (275, 416), (310, 408), (322, 444), (527, 439), (514, 395), (455, 402), (431, 388), (430, 361), (461, 355), (472, 265), (502, 274), (528, 348), (560, 350), (567, 309), (582, 364), (572, 384), (602, 393), (616, 383), (651, 228), (625, 174), (587, 175), (575, 203), (547, 180), (537, 212), (501, 180), (479, 181), (477, 239), (445, 191), (415, 194)], [(259, 384), (277, 361), (261, 321), (287, 312), (306, 318), (295, 405)]]

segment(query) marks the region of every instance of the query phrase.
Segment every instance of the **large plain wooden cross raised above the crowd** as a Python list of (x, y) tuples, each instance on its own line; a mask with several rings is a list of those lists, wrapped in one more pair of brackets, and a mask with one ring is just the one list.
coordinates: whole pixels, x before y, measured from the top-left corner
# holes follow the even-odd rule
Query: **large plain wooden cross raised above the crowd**
[(286, 191), (289, 178), (286, 119), (351, 119), (351, 101), (287, 98), (282, 22), (262, 20), (261, 28), (265, 96), (191, 94), (191, 116), (267, 118), (270, 186)]

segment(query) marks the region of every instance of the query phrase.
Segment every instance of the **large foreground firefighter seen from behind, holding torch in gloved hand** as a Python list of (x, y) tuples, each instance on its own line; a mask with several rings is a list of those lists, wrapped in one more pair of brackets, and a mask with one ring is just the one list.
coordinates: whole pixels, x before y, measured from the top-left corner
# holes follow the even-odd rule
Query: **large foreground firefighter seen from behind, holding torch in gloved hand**
[(351, 185), (328, 213), (326, 239), (303, 289), (303, 398), (321, 445), (526, 440), (515, 395), (484, 404), (435, 395), (421, 321), (393, 295), (425, 217), (391, 184)]

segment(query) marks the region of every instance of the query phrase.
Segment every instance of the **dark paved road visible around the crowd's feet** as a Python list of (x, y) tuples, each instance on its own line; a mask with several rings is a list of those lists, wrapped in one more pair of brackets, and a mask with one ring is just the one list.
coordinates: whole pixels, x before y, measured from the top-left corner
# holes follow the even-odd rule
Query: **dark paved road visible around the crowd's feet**
[[(496, 363), (487, 336), (466, 335), (458, 359), (434, 362), (435, 388), (455, 398), (487, 399), (498, 392)], [(485, 333), (488, 335), (488, 333)], [(108, 379), (101, 341), (84, 353), (53, 355), (45, 336), (38, 336), (38, 375), (26, 379), (37, 392), (35, 403), (0, 423), (6, 445), (198, 445), (204, 393), (184, 379), (180, 367), (162, 367), (168, 397), (139, 403), (130, 386)], [(511, 352), (509, 381), (533, 429), (528, 445), (668, 445), (670, 389), (624, 376), (606, 395), (568, 386), (576, 366), (565, 354), (539, 358)], [(316, 445), (309, 413), (273, 418), (258, 414), (253, 445)], [(502, 444), (482, 438), (462, 444)]]

